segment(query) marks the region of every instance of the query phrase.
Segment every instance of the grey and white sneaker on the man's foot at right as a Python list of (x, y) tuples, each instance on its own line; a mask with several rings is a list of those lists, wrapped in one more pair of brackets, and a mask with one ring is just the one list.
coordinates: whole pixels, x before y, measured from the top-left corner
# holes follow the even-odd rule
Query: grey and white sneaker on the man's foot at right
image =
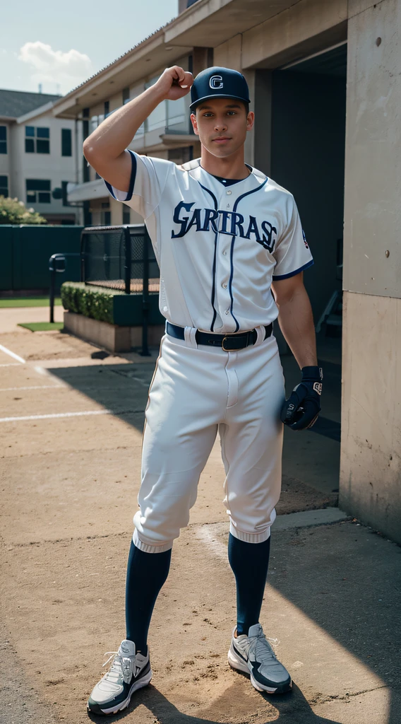
[(264, 636), (260, 623), (249, 628), (248, 636), (231, 639), (228, 651), (228, 663), (233, 669), (242, 671), (251, 677), (251, 684), (257, 691), (269, 694), (284, 694), (290, 691), (293, 682), (290, 674), (277, 657)]

